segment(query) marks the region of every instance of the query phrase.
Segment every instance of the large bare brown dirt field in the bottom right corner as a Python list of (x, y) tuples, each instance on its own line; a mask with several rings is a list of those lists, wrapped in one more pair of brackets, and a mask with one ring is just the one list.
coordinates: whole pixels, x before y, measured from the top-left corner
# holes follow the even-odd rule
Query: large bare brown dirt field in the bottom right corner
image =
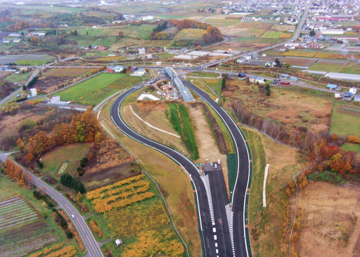
[[(360, 189), (316, 182), (302, 190), (298, 256), (360, 256)], [(295, 197), (290, 200), (294, 217)]]

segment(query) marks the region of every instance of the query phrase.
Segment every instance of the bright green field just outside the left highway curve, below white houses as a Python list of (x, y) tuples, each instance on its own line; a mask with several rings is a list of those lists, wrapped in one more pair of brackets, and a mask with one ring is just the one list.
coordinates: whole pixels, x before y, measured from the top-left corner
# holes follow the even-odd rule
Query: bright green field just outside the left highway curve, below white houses
[(62, 100), (96, 105), (119, 89), (139, 84), (142, 81), (142, 77), (131, 77), (129, 74), (124, 73), (101, 73), (61, 91), (59, 95)]

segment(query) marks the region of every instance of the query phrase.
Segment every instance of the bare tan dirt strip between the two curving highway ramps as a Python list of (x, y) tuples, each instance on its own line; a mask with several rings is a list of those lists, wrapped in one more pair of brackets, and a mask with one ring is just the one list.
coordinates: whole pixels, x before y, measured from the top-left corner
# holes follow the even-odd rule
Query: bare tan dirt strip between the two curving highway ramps
[(207, 122), (203, 109), (201, 106), (188, 108), (190, 118), (195, 125), (195, 138), (199, 149), (199, 162), (217, 161), (220, 159), (222, 174), (224, 175), (226, 190), (229, 197), (229, 179), (228, 179), (228, 166), (226, 164), (226, 154), (221, 154), (216, 145), (213, 133)]

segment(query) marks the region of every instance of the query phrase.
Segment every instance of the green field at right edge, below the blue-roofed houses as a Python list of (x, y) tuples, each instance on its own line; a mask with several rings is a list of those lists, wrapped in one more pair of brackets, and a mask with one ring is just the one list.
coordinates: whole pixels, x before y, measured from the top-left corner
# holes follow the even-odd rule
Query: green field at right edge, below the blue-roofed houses
[(337, 135), (360, 137), (360, 108), (348, 107), (345, 104), (334, 102), (331, 115), (330, 133)]

